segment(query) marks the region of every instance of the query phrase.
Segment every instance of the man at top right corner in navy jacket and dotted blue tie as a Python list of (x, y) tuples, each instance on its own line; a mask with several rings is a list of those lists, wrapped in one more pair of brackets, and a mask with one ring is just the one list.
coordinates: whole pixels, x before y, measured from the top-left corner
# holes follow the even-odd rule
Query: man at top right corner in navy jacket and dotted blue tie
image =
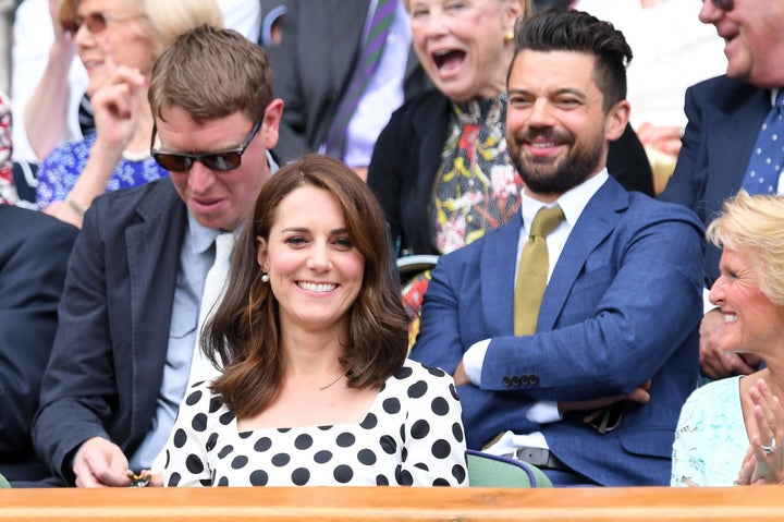
[[(760, 149), (757, 141), (764, 132), (762, 124), (784, 87), (784, 2), (703, 0), (699, 19), (713, 24), (724, 39), (727, 70), (686, 92), (688, 124), (683, 148), (659, 197), (688, 206), (708, 224), (723, 201), (742, 187), (750, 193), (760, 189), (772, 194), (782, 194), (784, 189), (784, 179), (779, 179), (776, 170), (769, 175), (755, 172), (755, 178), (764, 183), (748, 183), (755, 170), (752, 157)], [(784, 150), (779, 147), (777, 157), (771, 159), (774, 169), (775, 165), (784, 165)], [(720, 256), (719, 248), (708, 246), (707, 289), (719, 277)], [(759, 359), (718, 348), (723, 325), (718, 308), (705, 315), (700, 327), (702, 374), (718, 379), (755, 372)]]

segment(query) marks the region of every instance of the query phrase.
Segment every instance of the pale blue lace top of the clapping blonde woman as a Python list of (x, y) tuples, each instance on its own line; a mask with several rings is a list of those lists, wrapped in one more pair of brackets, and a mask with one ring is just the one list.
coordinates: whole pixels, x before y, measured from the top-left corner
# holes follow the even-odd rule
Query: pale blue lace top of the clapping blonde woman
[(670, 485), (733, 486), (748, 447), (740, 377), (709, 383), (681, 410)]

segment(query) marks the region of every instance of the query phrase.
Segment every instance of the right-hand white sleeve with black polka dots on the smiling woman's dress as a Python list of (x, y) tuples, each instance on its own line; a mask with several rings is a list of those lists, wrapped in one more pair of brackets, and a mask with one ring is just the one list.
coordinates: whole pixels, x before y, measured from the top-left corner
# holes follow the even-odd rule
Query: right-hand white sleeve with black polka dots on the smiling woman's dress
[(467, 486), (465, 435), (454, 381), (438, 368), (417, 374), (407, 388), (402, 483)]

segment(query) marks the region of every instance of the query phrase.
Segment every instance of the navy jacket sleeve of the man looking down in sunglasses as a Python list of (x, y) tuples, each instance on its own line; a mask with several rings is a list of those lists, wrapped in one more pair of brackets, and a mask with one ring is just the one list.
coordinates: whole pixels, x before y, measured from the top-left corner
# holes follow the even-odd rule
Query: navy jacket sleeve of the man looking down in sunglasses
[(71, 458), (85, 440), (111, 439), (102, 421), (118, 405), (107, 318), (105, 246), (95, 211), (85, 215), (60, 302), (60, 324), (33, 425), (38, 454), (56, 476), (73, 481)]

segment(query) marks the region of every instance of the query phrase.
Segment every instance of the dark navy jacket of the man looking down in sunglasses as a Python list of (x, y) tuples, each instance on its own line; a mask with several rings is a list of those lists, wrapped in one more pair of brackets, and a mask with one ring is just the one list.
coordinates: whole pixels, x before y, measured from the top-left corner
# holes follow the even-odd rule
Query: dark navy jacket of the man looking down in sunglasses
[(65, 482), (85, 440), (105, 437), (130, 456), (150, 429), (186, 213), (163, 178), (101, 195), (85, 214), (33, 426), (36, 450)]

